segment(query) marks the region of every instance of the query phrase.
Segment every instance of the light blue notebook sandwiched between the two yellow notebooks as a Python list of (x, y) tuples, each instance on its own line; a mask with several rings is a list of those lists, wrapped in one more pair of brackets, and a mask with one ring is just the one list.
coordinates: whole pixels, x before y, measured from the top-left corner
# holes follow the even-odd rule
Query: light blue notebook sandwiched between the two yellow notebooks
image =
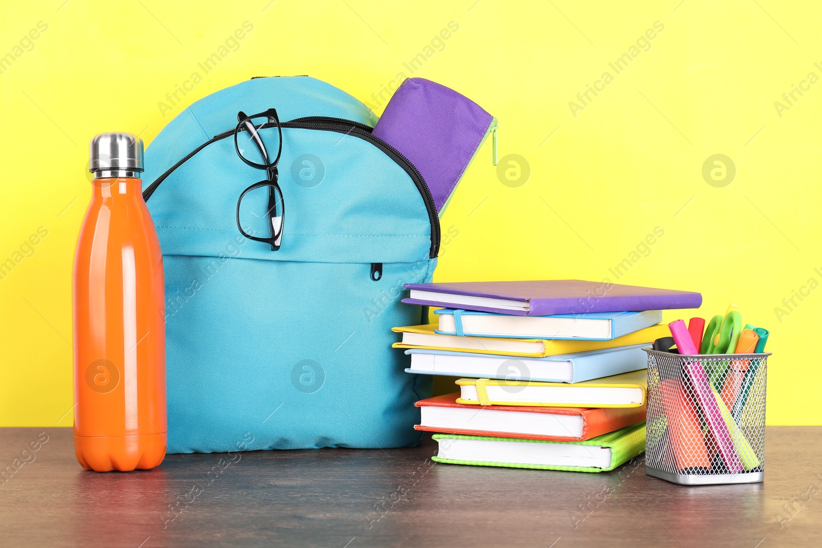
[[(411, 366), (405, 371), (476, 379), (576, 383), (645, 369), (648, 357), (642, 348), (650, 348), (650, 345), (635, 344), (548, 357), (507, 357), (410, 348), (405, 353), (411, 356)], [(511, 390), (518, 388), (510, 387)]]

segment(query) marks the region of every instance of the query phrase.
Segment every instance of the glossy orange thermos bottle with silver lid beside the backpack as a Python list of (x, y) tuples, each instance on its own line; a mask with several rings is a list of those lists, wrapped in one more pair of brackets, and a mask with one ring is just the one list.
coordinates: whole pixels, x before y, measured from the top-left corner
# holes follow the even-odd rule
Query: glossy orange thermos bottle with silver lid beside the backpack
[(74, 449), (86, 470), (147, 469), (166, 449), (163, 258), (141, 194), (143, 141), (91, 140), (74, 256)]

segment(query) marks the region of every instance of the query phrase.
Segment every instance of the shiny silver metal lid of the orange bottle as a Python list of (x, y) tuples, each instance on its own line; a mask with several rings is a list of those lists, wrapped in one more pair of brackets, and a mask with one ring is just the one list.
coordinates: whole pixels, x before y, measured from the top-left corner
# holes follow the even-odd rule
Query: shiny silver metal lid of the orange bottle
[(143, 171), (143, 141), (131, 133), (111, 131), (91, 140), (89, 171), (95, 178), (135, 177)]

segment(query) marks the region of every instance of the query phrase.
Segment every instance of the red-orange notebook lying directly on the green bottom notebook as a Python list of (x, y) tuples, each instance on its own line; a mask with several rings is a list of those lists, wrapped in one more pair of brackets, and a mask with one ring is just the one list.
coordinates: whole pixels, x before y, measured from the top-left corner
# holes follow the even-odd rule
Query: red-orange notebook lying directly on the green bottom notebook
[(546, 441), (584, 441), (645, 420), (638, 408), (547, 408), (456, 403), (459, 393), (414, 403), (420, 408), (415, 429), (446, 434), (485, 435)]

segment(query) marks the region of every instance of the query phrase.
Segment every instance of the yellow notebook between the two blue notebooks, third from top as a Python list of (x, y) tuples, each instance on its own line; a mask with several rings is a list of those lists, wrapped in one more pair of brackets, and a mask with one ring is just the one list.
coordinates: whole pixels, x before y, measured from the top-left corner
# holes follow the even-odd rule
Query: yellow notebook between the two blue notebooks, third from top
[(617, 348), (634, 344), (653, 343), (660, 337), (669, 337), (671, 330), (667, 325), (659, 324), (640, 329), (634, 333), (614, 338), (610, 341), (588, 340), (551, 340), (547, 338), (496, 338), (496, 337), (459, 337), (442, 335), (434, 332), (436, 325), (411, 325), (395, 327), (395, 333), (402, 333), (401, 343), (394, 343), (394, 348), (427, 348), (429, 350), (451, 350), (455, 352), (473, 352), (476, 354), (494, 354), (515, 357), (546, 357), (558, 354), (572, 354), (601, 348)]

